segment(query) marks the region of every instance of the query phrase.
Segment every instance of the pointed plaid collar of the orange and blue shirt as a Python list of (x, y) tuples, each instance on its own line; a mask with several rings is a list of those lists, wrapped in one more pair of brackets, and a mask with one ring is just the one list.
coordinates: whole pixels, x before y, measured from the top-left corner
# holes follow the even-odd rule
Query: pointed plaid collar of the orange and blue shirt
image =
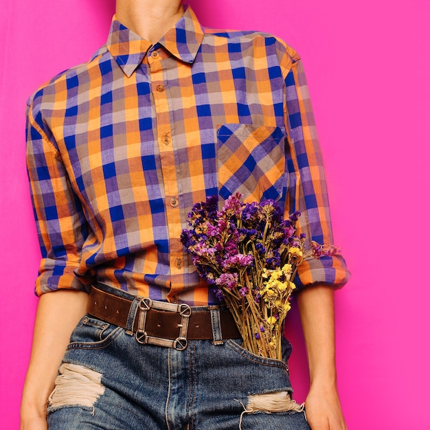
[[(203, 35), (203, 28), (188, 6), (181, 19), (158, 43), (184, 63), (193, 63)], [(142, 63), (152, 44), (122, 25), (114, 15), (106, 47), (124, 73), (130, 77)]]

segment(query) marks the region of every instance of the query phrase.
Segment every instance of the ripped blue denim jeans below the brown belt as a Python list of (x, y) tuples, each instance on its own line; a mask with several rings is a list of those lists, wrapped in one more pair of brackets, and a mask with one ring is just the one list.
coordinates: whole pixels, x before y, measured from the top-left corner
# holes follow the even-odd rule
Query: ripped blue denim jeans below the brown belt
[(47, 420), (50, 430), (309, 430), (303, 412), (244, 412), (250, 395), (291, 391), (286, 363), (237, 339), (179, 351), (142, 345), (87, 315), (71, 335)]

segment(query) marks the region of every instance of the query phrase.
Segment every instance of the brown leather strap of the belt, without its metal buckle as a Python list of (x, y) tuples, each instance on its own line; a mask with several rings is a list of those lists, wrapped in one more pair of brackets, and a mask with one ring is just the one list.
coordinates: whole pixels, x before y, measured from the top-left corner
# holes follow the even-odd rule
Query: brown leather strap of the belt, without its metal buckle
[[(87, 312), (98, 319), (127, 328), (128, 314), (133, 299), (126, 299), (107, 293), (93, 286), (89, 294)], [(137, 313), (139, 308), (137, 307)], [(133, 330), (137, 330), (138, 317), (135, 318)], [(148, 336), (163, 339), (176, 339), (178, 337), (178, 324), (181, 324), (181, 315), (150, 308), (146, 316), (145, 331)], [(223, 339), (239, 339), (240, 333), (233, 316), (228, 309), (220, 309), (220, 326)], [(188, 336), (190, 340), (213, 339), (210, 310), (192, 308), (188, 322)]]

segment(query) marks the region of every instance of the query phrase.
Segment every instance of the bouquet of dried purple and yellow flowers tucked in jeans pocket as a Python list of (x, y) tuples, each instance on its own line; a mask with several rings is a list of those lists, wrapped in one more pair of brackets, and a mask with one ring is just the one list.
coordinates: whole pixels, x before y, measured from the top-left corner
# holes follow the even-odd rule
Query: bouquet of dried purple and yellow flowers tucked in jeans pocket
[(283, 321), (299, 264), (336, 251), (311, 242), (305, 252), (305, 235), (296, 235), (299, 215), (284, 219), (275, 201), (243, 203), (240, 193), (218, 210), (218, 197), (211, 196), (194, 205), (190, 229), (181, 234), (199, 275), (231, 311), (242, 346), (262, 357), (282, 359)]

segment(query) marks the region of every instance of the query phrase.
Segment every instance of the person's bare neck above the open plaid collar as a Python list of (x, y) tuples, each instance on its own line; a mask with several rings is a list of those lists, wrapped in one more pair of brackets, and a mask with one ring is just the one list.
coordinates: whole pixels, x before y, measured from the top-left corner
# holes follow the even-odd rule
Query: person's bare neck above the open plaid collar
[(157, 43), (183, 15), (182, 0), (117, 0), (118, 21), (142, 38)]

